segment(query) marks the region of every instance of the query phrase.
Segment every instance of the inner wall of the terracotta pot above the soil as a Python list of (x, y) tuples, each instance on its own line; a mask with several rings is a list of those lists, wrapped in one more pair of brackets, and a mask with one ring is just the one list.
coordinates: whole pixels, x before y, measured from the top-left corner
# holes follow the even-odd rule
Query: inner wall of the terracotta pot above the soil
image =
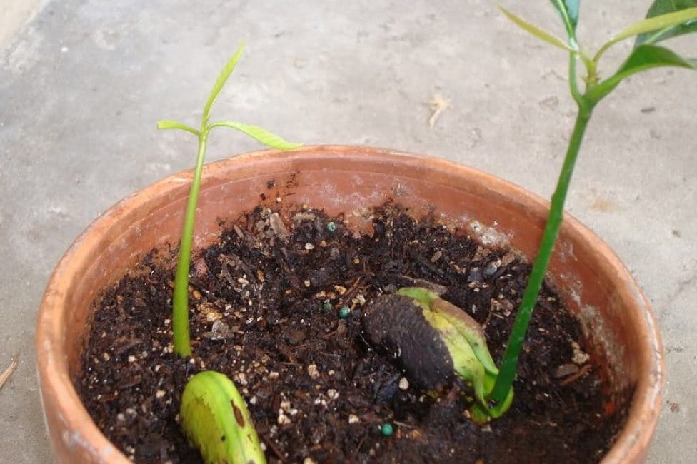
[[(347, 220), (363, 228), (368, 224), (365, 214), (369, 208), (393, 199), (411, 208), (417, 217), (436, 213), (448, 225), (469, 228), (485, 241), (508, 243), (528, 256), (536, 251), (541, 236), (545, 203), (476, 171), (453, 169), (451, 163), (432, 160), (428, 166), (413, 161), (418, 158), (370, 153), (350, 161), (346, 153), (331, 148), (314, 156), (279, 153), (246, 162), (250, 158), (254, 155), (207, 167), (196, 247), (217, 238), (219, 218), (234, 219), (260, 204), (276, 204), (277, 198), (283, 211), (306, 203), (331, 215), (344, 213)], [(396, 163), (397, 158), (401, 162)], [(470, 183), (462, 183), (463, 172), (472, 179)], [(101, 218), (104, 221), (91, 226), (102, 229), (99, 243), (91, 247), (90, 259), (76, 272), (80, 277), (74, 291), (66, 296), (71, 311), (65, 341), (72, 376), (79, 369), (94, 299), (152, 248), (178, 243), (188, 180), (188, 174), (168, 178), (158, 188), (147, 188), (145, 198), (122, 201)], [(511, 196), (512, 192), (516, 195)], [(134, 202), (136, 208), (126, 208)], [(597, 243), (578, 233), (578, 227), (583, 228), (578, 223), (572, 228), (572, 222), (569, 219), (563, 228), (551, 271), (568, 305), (581, 316), (596, 343), (592, 354), (608, 361), (605, 374), (613, 380), (613, 393), (623, 394), (636, 383), (641, 370), (637, 361), (641, 358), (632, 355), (641, 349), (640, 341), (629, 333), (632, 321), (623, 306), (624, 293), (630, 289), (625, 288), (626, 277), (608, 274), (608, 259), (616, 258), (598, 253)], [(641, 300), (641, 296), (631, 298)]]

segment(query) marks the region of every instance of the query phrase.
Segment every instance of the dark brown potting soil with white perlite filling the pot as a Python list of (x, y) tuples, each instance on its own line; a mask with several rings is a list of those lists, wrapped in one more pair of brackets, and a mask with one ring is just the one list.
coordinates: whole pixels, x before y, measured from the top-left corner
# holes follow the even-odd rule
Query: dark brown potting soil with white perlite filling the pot
[(179, 432), (180, 395), (191, 375), (219, 370), (246, 399), (271, 463), (600, 460), (624, 416), (608, 413), (579, 323), (548, 285), (513, 405), (483, 428), (466, 418), (470, 392), (428, 395), (368, 346), (366, 305), (401, 286), (437, 284), (483, 325), (500, 359), (529, 271), (509, 251), (389, 202), (371, 222), (361, 235), (307, 207), (257, 208), (235, 221), (192, 266), (189, 360), (172, 353), (174, 259), (144, 258), (97, 303), (75, 382), (106, 437), (137, 462), (200, 462)]

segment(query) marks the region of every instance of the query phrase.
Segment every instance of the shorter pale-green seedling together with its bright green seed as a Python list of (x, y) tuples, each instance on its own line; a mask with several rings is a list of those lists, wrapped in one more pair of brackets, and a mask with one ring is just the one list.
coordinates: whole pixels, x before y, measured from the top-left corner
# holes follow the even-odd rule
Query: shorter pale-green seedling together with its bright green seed
[[(174, 352), (182, 358), (191, 356), (189, 336), (189, 268), (191, 266), (191, 243), (194, 237), (194, 219), (201, 189), (201, 175), (206, 158), (206, 142), (209, 133), (216, 127), (234, 128), (264, 145), (278, 150), (293, 150), (300, 145), (256, 126), (235, 121), (209, 122), (211, 108), (235, 69), (244, 49), (239, 46), (220, 71), (209, 94), (201, 116), (199, 129), (186, 126), (177, 121), (159, 121), (160, 129), (180, 129), (193, 133), (199, 139), (194, 177), (191, 180), (189, 198), (184, 213), (184, 226), (179, 243), (179, 256), (174, 278), (174, 297), (172, 298), (172, 330)], [(241, 395), (234, 383), (225, 375), (204, 372), (194, 375), (184, 389), (180, 409), (181, 426), (190, 442), (199, 448), (207, 463), (264, 463), (259, 438), (251, 423)]]

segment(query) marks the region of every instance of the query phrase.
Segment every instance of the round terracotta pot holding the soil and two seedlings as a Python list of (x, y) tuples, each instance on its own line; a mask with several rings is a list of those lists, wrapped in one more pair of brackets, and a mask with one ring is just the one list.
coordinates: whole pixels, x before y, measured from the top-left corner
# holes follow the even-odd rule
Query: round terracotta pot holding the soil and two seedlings
[[(151, 248), (179, 241), (190, 178), (190, 172), (176, 174), (117, 203), (77, 238), (51, 276), (36, 353), (58, 462), (129, 462), (96, 428), (71, 379), (80, 368), (94, 298)], [(269, 181), (275, 186), (269, 188)], [(288, 208), (308, 203), (330, 214), (394, 198), (417, 215), (435, 211), (446, 223), (466, 224), (483, 241), (509, 243), (528, 256), (536, 251), (548, 209), (546, 201), (511, 183), (437, 158), (351, 146), (261, 151), (206, 167), (195, 246), (216, 239), (218, 218), (235, 218), (260, 201), (275, 203), (276, 194)], [(608, 246), (569, 216), (551, 272), (593, 334), (592, 355), (605, 365), (609, 393), (620, 402), (633, 390), (626, 426), (603, 463), (641, 462), (656, 428), (665, 370), (646, 298)]]

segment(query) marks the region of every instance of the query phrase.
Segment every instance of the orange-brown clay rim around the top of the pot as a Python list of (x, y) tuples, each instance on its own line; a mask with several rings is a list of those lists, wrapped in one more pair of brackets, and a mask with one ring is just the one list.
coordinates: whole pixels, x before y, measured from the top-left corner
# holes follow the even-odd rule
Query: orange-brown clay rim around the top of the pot
[[(216, 177), (216, 172), (220, 171), (221, 168), (248, 162), (266, 160), (283, 163), (294, 158), (307, 157), (316, 157), (317, 161), (321, 162), (322, 158), (341, 157), (352, 160), (361, 156), (370, 158), (371, 161), (406, 163), (415, 167), (423, 166), (424, 163), (427, 163), (428, 170), (443, 171), (451, 175), (455, 173), (456, 176), (463, 178), (478, 178), (489, 186), (495, 186), (498, 193), (501, 193), (503, 196), (516, 198), (517, 203), (521, 203), (523, 207), (529, 208), (535, 216), (548, 210), (549, 203), (545, 199), (489, 173), (442, 158), (366, 146), (303, 146), (291, 152), (274, 150), (251, 151), (206, 164), (204, 180)], [(39, 370), (41, 390), (53, 390), (56, 392), (55, 403), (58, 405), (59, 418), (66, 421), (64, 419), (65, 416), (70, 415), (73, 419), (71, 423), (76, 424), (68, 439), (81, 445), (88, 443), (89, 448), (95, 455), (104, 457), (111, 455), (111, 458), (115, 458), (116, 461), (130, 462), (106, 439), (91, 420), (70, 380), (67, 357), (64, 354), (64, 328), (61, 326), (61, 321), (64, 320), (64, 314), (67, 312), (64, 304), (66, 293), (64, 284), (61, 281), (69, 273), (69, 263), (71, 261), (85, 259), (90, 256), (91, 250), (98, 242), (94, 236), (94, 231), (120, 221), (129, 211), (147, 203), (154, 196), (162, 195), (163, 191), (169, 191), (176, 186), (181, 186), (182, 182), (189, 182), (191, 173), (192, 170), (182, 171), (151, 183), (149, 186), (126, 196), (126, 198), (123, 198), (98, 216), (66, 251), (51, 274), (49, 283), (46, 286), (37, 317), (35, 334), (36, 362)], [(571, 230), (573, 233), (579, 234), (583, 240), (591, 243), (594, 249), (603, 254), (608, 262), (608, 266), (611, 266), (618, 275), (626, 275), (623, 277), (629, 283), (629, 290), (633, 293), (636, 303), (634, 306), (641, 312), (642, 319), (646, 322), (638, 335), (651, 344), (651, 358), (646, 360), (646, 363), (651, 368), (651, 372), (648, 373), (649, 375), (640, 376), (632, 398), (626, 425), (623, 427), (616, 443), (614, 443), (602, 461), (603, 463), (634, 462), (641, 458), (641, 450), (644, 447), (648, 447), (648, 443), (651, 441), (662, 403), (661, 389), (665, 380), (665, 364), (656, 320), (641, 288), (639, 288), (634, 278), (611, 248), (601, 241), (591, 229), (584, 226), (571, 215), (566, 214), (563, 227), (565, 230)]]

